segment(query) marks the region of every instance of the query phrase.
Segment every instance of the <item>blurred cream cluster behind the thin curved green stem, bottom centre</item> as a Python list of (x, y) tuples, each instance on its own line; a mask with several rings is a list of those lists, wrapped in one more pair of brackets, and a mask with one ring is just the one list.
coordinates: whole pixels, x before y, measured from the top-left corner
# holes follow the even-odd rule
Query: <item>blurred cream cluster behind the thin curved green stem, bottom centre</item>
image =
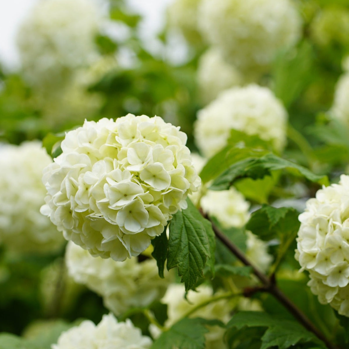
[[(189, 311), (200, 303), (206, 302), (213, 296), (213, 289), (208, 285), (200, 285), (196, 288), (196, 291), (189, 290), (185, 298), (185, 288), (182, 284), (171, 284), (161, 302), (167, 305), (168, 319), (165, 322), (165, 326), (172, 326), (175, 322), (179, 321)], [(220, 291), (215, 295), (219, 295)], [(218, 300), (217, 302), (209, 303), (206, 306), (201, 307), (192, 314), (191, 318), (204, 318), (209, 320), (220, 320), (227, 323), (230, 319), (229, 302), (226, 299)], [(223, 342), (224, 329), (218, 326), (211, 326), (210, 332), (205, 335), (206, 337), (206, 349), (222, 349), (225, 348)]]

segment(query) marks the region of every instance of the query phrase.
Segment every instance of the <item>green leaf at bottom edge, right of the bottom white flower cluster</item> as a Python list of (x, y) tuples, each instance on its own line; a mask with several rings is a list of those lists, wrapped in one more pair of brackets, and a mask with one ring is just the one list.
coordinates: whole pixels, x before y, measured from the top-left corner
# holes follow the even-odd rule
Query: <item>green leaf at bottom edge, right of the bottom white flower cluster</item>
[(208, 332), (205, 325), (224, 326), (217, 320), (184, 318), (176, 322), (169, 331), (163, 332), (150, 349), (204, 349), (205, 334)]

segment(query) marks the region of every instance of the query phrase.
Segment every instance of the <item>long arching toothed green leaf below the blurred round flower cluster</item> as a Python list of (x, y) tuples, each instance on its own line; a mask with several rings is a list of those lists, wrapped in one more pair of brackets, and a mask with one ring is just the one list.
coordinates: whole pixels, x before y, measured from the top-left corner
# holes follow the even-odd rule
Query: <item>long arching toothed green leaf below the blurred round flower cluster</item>
[(259, 179), (269, 176), (271, 171), (282, 169), (286, 169), (296, 176), (303, 176), (312, 182), (328, 184), (327, 176), (318, 176), (303, 166), (269, 153), (261, 157), (248, 157), (232, 164), (228, 170), (214, 180), (210, 189), (227, 190), (238, 179), (246, 177)]

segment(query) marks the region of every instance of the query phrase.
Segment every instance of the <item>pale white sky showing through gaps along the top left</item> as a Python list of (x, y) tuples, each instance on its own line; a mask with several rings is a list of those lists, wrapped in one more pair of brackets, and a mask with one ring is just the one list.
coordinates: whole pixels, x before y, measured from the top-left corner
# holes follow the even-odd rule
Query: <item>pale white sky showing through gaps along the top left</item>
[[(15, 45), (16, 31), (23, 18), (37, 0), (0, 0), (0, 61), (4, 68), (16, 70), (20, 66)], [(103, 0), (94, 0), (103, 1)], [(136, 12), (144, 16), (140, 25), (140, 35), (150, 51), (161, 49), (154, 38), (164, 24), (166, 7), (173, 0), (127, 0)], [(174, 39), (175, 41), (176, 39)], [(182, 49), (183, 50), (183, 49)], [(177, 54), (184, 52), (176, 50)], [(180, 57), (179, 57), (180, 59)]]

